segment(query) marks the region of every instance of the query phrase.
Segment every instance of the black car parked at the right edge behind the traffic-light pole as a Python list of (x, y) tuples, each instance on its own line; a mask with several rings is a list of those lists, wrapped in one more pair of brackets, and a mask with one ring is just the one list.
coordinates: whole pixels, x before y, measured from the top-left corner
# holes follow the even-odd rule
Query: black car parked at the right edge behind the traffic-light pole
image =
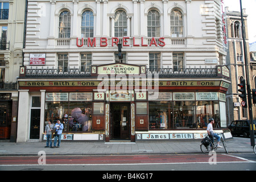
[[(256, 120), (253, 120), (254, 125), (256, 125)], [(236, 120), (232, 121), (232, 123), (228, 126), (232, 135), (243, 135), (243, 137), (250, 136), (250, 121), (249, 120)], [(254, 129), (254, 135), (256, 134), (256, 130)]]

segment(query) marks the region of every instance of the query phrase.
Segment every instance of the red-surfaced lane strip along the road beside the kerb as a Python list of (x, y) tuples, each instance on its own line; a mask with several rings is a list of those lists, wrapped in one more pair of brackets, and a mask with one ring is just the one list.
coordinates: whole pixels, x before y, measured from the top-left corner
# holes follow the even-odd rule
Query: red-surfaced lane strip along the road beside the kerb
[[(0, 165), (38, 164), (40, 156), (1, 156)], [(110, 155), (110, 156), (46, 156), (46, 164), (164, 164), (208, 163), (210, 155)], [(216, 162), (251, 162), (225, 154), (217, 154)]]

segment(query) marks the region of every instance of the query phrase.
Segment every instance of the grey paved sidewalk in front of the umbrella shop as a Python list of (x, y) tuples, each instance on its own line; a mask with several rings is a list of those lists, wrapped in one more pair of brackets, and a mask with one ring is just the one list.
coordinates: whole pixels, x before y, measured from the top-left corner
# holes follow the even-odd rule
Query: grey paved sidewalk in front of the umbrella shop
[[(38, 155), (138, 155), (138, 154), (200, 154), (200, 142), (61, 142), (59, 148), (44, 148), (46, 142), (0, 142), (0, 156)], [(229, 153), (253, 152), (250, 138), (234, 137), (226, 140)], [(219, 148), (217, 153), (225, 153)]]

